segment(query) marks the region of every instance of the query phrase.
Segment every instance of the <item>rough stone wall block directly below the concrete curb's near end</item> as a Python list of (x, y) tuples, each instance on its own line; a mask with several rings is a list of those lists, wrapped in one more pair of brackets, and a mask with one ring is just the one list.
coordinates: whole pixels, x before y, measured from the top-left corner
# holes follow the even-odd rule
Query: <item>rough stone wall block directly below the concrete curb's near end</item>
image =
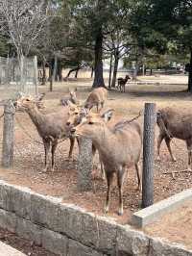
[[(148, 255), (149, 239), (129, 225), (117, 227), (117, 252), (119, 255), (145, 256)], [(126, 255), (126, 254), (125, 254)]]

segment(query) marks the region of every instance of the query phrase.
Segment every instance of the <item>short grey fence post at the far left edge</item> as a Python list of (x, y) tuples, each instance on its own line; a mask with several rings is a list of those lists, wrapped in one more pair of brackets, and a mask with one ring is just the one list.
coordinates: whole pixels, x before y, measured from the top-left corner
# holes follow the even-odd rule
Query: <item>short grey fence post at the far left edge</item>
[(14, 113), (12, 100), (4, 107), (2, 166), (9, 168), (13, 165)]

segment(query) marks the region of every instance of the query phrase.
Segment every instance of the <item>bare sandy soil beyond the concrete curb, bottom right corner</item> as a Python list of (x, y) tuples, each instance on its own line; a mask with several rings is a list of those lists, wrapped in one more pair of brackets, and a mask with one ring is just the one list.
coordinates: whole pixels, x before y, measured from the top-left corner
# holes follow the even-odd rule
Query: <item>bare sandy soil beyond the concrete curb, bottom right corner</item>
[(192, 249), (192, 201), (184, 203), (177, 210), (164, 215), (144, 231), (154, 237), (162, 237), (174, 242), (184, 243)]

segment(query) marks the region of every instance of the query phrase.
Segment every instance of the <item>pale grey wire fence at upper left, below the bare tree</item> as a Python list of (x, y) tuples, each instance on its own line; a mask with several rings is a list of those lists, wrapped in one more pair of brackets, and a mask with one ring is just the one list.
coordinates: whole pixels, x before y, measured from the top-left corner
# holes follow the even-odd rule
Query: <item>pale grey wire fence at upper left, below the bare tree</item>
[(37, 93), (37, 60), (35, 57), (17, 58), (0, 57), (0, 98), (13, 98), (15, 94), (24, 92)]

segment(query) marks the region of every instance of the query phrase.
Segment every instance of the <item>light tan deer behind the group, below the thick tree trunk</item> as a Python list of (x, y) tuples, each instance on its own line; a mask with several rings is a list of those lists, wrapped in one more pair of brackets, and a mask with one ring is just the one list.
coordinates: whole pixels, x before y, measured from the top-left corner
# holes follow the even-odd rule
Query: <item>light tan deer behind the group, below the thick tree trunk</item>
[(97, 108), (97, 112), (99, 112), (99, 106), (101, 106), (100, 110), (104, 107), (104, 104), (108, 97), (108, 90), (104, 87), (99, 87), (90, 92), (87, 99), (84, 103), (85, 109), (92, 109), (94, 106)]

